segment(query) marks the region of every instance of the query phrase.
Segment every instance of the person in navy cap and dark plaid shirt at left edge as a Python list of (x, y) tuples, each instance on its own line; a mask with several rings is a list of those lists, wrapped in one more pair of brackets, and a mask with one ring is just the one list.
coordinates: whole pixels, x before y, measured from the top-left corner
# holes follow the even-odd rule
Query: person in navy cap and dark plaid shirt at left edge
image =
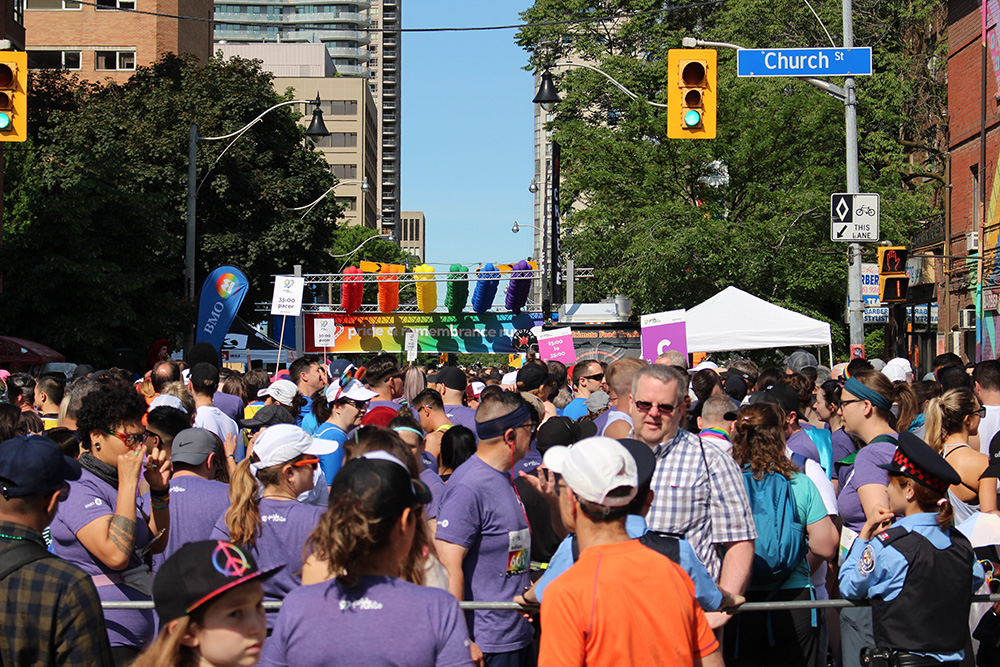
[(42, 531), (80, 464), (40, 435), (0, 443), (0, 663), (114, 664), (101, 601), (76, 565), (49, 554)]

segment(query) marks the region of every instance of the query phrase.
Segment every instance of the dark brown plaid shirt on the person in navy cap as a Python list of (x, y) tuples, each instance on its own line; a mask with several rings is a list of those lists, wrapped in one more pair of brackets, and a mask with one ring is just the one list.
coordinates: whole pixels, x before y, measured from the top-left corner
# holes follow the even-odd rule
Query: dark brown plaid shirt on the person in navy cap
[[(0, 521), (0, 553), (40, 533)], [(43, 558), (0, 579), (0, 662), (4, 665), (112, 667), (111, 647), (97, 589), (83, 570)]]

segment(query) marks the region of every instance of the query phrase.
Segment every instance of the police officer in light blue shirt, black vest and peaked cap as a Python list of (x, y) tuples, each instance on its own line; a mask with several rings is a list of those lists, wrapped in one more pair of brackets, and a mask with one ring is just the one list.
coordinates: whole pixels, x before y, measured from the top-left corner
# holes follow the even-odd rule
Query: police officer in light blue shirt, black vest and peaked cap
[(945, 502), (948, 487), (961, 478), (911, 433), (900, 434), (892, 461), (880, 467), (889, 471), (891, 509), (875, 508), (840, 570), (841, 595), (872, 600), (876, 646), (862, 650), (861, 662), (958, 665), (969, 635), (970, 597), (984, 580), (969, 541), (951, 527)]

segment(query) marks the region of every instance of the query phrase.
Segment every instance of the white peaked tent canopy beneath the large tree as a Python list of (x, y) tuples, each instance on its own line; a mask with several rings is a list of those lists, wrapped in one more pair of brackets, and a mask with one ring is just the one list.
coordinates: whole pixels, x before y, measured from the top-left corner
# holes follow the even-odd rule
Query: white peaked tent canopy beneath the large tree
[(830, 325), (729, 286), (687, 311), (690, 352), (828, 346)]

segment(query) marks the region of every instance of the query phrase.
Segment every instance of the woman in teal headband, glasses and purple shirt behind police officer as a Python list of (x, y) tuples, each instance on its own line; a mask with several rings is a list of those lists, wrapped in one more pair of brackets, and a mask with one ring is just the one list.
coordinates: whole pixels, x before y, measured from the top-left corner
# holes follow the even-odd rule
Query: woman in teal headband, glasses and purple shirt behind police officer
[[(892, 412), (899, 407), (900, 417)], [(896, 453), (897, 431), (905, 431), (916, 415), (917, 403), (909, 385), (893, 385), (882, 373), (859, 370), (840, 391), (840, 414), (844, 428), (864, 446), (845, 465), (853, 465), (840, 480), (837, 508), (844, 522), (841, 543), (849, 542), (871, 517), (876, 507), (889, 505), (889, 474), (882, 465)], [(840, 613), (842, 657), (845, 667), (860, 665), (861, 649), (873, 646), (872, 615), (867, 607), (843, 609)]]

